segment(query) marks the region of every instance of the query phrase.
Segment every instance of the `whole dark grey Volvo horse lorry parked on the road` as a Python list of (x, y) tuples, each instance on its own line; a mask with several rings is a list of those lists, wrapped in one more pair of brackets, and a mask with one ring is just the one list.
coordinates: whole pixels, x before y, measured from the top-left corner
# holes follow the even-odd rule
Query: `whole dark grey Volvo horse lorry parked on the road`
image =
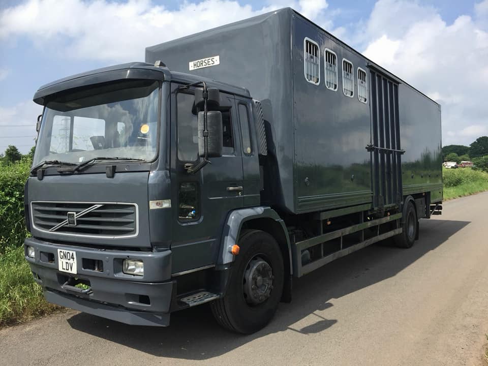
[[(412, 59), (412, 62), (420, 62)], [(42, 86), (25, 258), (50, 302), (264, 327), (292, 278), (441, 213), (440, 106), (286, 8)]]

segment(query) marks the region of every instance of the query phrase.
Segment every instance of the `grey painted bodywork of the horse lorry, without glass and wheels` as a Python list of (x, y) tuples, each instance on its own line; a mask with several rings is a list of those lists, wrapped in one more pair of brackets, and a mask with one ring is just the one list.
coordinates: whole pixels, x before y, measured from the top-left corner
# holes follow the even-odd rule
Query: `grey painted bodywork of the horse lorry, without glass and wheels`
[[(304, 75), (306, 39), (320, 51), (317, 82)], [(337, 90), (324, 82), (326, 49), (337, 56)], [(218, 65), (189, 70), (195, 60), (217, 55)], [(356, 70), (367, 74), (365, 103), (343, 93), (343, 59), (353, 65), (356, 93)], [(158, 60), (165, 66), (153, 66)], [(32, 237), (25, 247), (34, 247), (36, 256), (26, 259), (49, 301), (129, 324), (168, 325), (172, 311), (195, 304), (188, 300), (192, 294), (212, 294), (209, 300), (225, 295), (235, 260), (229, 248), (242, 230), (275, 237), (289, 279), (402, 233), (406, 202), (415, 203), (417, 218), (440, 207), (440, 106), (292, 9), (148, 47), (145, 61), (58, 80), (34, 97), (49, 106), (65, 93), (89, 94), (113, 82), (159, 85), (154, 158), (100, 161), (72, 173), (53, 164), (29, 177), (25, 209)], [(220, 90), (232, 141), (222, 157), (188, 174), (188, 161), (179, 155), (178, 98), (183, 86), (201, 81)], [(248, 113), (249, 149), (241, 110)], [(41, 139), (48, 136), (46, 114)], [(259, 151), (263, 143), (265, 152)], [(73, 154), (82, 161), (88, 153)], [(197, 187), (194, 205), (183, 202), (182, 187)], [(170, 200), (170, 207), (150, 206), (158, 200)], [(84, 226), (79, 221), (51, 230), (66, 212), (93, 205), (100, 205), (98, 213), (85, 216)], [(180, 220), (184, 209), (198, 211), (195, 220)], [(123, 220), (109, 227), (113, 212)], [(337, 226), (328, 228), (334, 218)], [(345, 224), (351, 218), (358, 221)], [(370, 227), (377, 232), (365, 232)], [(59, 270), (58, 249), (77, 253), (75, 276)], [(144, 276), (124, 273), (122, 262), (131, 258), (144, 262)], [(72, 277), (88, 281), (91, 290), (66, 286)]]

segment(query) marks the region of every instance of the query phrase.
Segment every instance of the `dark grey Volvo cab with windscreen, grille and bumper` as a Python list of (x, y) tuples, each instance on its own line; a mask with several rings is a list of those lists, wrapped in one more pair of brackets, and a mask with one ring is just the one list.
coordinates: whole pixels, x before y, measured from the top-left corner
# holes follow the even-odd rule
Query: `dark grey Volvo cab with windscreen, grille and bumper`
[[(223, 294), (239, 229), (230, 226), (242, 221), (232, 212), (253, 207), (276, 222), (259, 207), (245, 88), (132, 63), (48, 84), (34, 100), (44, 111), (25, 188), (25, 250), (49, 301), (168, 325), (171, 311)], [(199, 109), (208, 118), (200, 130)], [(204, 132), (217, 153), (205, 156)]]

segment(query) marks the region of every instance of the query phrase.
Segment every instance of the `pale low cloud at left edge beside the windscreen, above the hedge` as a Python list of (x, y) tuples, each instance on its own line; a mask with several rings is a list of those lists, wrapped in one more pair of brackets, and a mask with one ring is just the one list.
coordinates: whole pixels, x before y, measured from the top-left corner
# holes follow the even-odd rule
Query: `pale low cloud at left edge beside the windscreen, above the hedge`
[(15, 145), (22, 154), (35, 144), (36, 118), (42, 107), (33, 101), (24, 101), (12, 107), (0, 106), (0, 153), (8, 145)]

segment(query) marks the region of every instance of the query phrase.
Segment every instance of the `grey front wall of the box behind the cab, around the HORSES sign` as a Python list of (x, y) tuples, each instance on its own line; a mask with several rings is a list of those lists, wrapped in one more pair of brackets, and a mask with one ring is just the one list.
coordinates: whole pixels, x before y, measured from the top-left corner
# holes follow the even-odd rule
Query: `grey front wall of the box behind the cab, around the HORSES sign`
[[(161, 59), (171, 71), (249, 89), (261, 101), (268, 139), (265, 204), (294, 211), (291, 9), (210, 29), (146, 49), (146, 62)], [(220, 64), (189, 70), (189, 63), (219, 56)]]

